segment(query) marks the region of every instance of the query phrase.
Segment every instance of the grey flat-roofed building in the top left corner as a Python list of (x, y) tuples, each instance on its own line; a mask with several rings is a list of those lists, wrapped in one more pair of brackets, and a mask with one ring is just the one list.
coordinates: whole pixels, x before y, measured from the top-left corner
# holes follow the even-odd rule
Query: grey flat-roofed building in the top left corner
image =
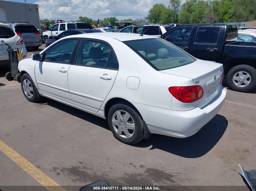
[(19, 3), (0, 0), (0, 21), (28, 22), (40, 27), (39, 10), (37, 4)]

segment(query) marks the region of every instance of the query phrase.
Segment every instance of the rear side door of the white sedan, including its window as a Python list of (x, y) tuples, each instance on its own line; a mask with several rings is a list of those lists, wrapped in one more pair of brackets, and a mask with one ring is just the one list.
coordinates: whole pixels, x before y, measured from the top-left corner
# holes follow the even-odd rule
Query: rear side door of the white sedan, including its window
[(118, 61), (105, 42), (82, 40), (68, 70), (68, 87), (75, 106), (97, 112), (118, 73)]

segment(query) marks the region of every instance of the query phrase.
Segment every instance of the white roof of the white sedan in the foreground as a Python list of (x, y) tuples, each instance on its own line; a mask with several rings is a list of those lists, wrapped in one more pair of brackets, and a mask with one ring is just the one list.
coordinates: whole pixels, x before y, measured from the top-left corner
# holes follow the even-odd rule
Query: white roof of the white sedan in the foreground
[[(119, 41), (128, 41), (128, 40), (139, 40), (139, 39), (149, 39), (149, 38), (157, 38), (149, 35), (140, 36), (139, 34), (135, 33), (87, 33), (87, 34), (77, 34), (71, 35), (64, 38), (92, 38), (97, 40), (107, 40), (107, 39), (116, 39)], [(62, 39), (64, 39), (62, 38)]]

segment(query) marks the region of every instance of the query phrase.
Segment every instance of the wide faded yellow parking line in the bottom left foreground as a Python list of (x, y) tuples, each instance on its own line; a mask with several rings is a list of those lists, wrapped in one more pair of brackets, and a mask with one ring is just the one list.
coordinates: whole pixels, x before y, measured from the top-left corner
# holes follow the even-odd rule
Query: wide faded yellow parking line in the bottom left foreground
[(66, 191), (58, 183), (0, 140), (0, 150), (49, 191)]

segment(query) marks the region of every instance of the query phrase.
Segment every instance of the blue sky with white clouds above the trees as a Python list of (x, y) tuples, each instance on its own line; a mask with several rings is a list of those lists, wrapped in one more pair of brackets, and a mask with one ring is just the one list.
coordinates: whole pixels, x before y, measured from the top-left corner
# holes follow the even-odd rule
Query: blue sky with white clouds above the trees
[[(23, 2), (24, 0), (12, 0)], [(92, 19), (116, 17), (119, 20), (144, 19), (156, 3), (169, 5), (169, 0), (26, 0), (39, 5), (40, 19), (77, 20), (79, 16)], [(185, 0), (182, 0), (185, 2)]]

